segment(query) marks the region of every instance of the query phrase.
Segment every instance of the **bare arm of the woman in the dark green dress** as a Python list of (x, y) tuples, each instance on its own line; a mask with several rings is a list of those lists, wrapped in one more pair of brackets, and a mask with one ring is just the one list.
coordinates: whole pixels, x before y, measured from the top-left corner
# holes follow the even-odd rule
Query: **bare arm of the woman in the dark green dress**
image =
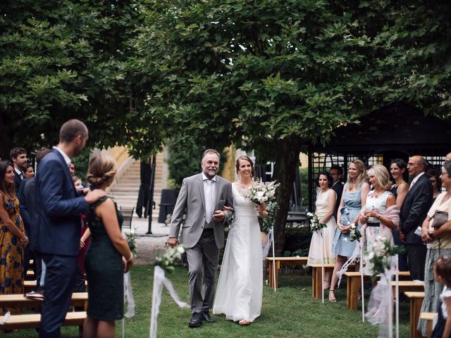
[(134, 260), (132, 251), (130, 251), (128, 243), (119, 228), (118, 218), (116, 216), (116, 206), (114, 206), (111, 199), (107, 199), (104, 203), (95, 208), (95, 213), (97, 213), (99, 218), (101, 218), (102, 223), (104, 223), (106, 234), (108, 234), (108, 237), (111, 239), (113, 246), (127, 261), (128, 264), (125, 268), (125, 272), (127, 272), (130, 270)]

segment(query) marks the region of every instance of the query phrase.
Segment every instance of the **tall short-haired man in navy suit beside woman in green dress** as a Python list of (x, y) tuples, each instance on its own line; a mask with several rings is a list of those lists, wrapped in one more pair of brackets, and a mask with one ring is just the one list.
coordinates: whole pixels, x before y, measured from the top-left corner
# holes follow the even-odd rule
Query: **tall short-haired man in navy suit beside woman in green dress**
[(96, 189), (80, 195), (70, 177), (70, 158), (81, 153), (88, 139), (87, 127), (79, 120), (64, 123), (54, 146), (39, 163), (36, 175), (37, 223), (32, 227), (32, 250), (46, 265), (44, 302), (39, 337), (60, 337), (68, 311), (81, 234), (81, 213), (106, 192)]

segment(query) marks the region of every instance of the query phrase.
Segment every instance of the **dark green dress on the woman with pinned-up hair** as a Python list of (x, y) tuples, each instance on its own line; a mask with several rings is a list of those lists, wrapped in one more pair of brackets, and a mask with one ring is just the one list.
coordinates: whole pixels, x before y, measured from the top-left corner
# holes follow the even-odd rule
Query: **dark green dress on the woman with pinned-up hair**
[[(121, 320), (124, 316), (124, 265), (121, 253), (113, 246), (104, 223), (94, 209), (109, 197), (102, 197), (91, 206), (87, 225), (91, 243), (85, 255), (88, 303), (87, 315), (97, 320)], [(119, 227), (123, 223), (121, 211), (116, 208)]]

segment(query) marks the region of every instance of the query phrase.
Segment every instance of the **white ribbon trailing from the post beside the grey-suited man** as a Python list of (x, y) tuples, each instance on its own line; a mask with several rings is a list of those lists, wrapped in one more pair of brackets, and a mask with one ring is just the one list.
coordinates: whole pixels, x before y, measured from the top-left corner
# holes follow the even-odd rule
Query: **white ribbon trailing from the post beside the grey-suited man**
[(190, 305), (184, 301), (180, 301), (177, 292), (173, 287), (173, 284), (164, 274), (164, 270), (159, 266), (155, 267), (154, 270), (154, 292), (152, 294), (152, 314), (150, 317), (150, 338), (156, 338), (157, 332), (157, 320), (158, 314), (160, 312), (161, 304), (161, 292), (163, 291), (163, 285), (168, 289), (169, 294), (172, 299), (177, 303), (180, 308), (190, 308)]

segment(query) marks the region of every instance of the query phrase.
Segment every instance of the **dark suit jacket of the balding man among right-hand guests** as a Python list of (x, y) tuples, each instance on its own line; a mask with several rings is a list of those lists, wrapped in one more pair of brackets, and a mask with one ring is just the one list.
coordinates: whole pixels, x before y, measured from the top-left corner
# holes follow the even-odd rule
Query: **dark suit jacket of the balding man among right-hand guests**
[(400, 219), (401, 231), (406, 236), (407, 244), (423, 244), (421, 236), (414, 232), (421, 227), (432, 205), (433, 188), (429, 177), (421, 175), (414, 186), (407, 192), (402, 203)]

